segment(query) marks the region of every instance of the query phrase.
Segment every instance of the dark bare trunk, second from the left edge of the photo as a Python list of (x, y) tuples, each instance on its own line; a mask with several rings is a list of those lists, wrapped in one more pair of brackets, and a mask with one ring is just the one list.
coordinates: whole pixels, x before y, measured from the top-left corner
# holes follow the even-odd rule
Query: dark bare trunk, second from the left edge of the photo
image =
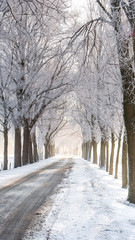
[(21, 129), (15, 128), (14, 167), (21, 167)]

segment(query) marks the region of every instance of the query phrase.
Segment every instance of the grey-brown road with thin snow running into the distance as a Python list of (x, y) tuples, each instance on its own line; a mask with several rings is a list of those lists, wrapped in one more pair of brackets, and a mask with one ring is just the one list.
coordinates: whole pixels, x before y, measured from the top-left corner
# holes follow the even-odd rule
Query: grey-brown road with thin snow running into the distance
[(0, 240), (21, 240), (32, 217), (53, 194), (72, 159), (57, 161), (0, 189)]

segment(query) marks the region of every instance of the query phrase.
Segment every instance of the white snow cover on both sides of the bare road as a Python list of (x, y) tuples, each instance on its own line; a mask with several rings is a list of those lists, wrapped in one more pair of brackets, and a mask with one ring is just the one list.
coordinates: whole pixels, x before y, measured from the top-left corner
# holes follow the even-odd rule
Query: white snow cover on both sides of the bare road
[[(8, 183), (56, 160), (1, 172), (0, 182)], [(126, 201), (127, 190), (121, 188), (121, 181), (83, 159), (73, 162), (71, 172), (49, 200), (49, 211), (46, 205), (39, 210), (23, 240), (134, 240), (135, 205)]]

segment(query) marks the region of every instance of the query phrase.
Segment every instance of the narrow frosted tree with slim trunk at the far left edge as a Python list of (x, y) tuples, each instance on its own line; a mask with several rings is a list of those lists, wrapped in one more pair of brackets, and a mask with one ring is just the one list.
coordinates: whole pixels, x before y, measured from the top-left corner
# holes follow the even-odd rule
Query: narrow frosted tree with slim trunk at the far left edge
[[(11, 127), (12, 92), (11, 92), (11, 59), (5, 51), (7, 41), (0, 38), (0, 125), (4, 137), (4, 170), (8, 169), (8, 131)], [(10, 50), (9, 50), (10, 51)]]

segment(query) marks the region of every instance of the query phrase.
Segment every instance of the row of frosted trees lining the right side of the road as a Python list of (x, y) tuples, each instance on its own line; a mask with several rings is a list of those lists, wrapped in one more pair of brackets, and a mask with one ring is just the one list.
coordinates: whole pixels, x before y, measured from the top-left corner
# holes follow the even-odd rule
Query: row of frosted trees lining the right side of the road
[(92, 148), (93, 163), (106, 167), (109, 174), (113, 174), (114, 149), (118, 139), (114, 172), (117, 178), (122, 142), (122, 186), (128, 184), (128, 200), (135, 203), (135, 2), (97, 0), (96, 3), (94, 12), (94, 5), (89, 1), (90, 12), (93, 13), (91, 19), (76, 31), (70, 41), (75, 47), (78, 44), (80, 52), (83, 49), (83, 58), (80, 59), (83, 60), (85, 87), (83, 92), (76, 93), (80, 115), (77, 121), (79, 119), (84, 138), (82, 153), (89, 159)]

